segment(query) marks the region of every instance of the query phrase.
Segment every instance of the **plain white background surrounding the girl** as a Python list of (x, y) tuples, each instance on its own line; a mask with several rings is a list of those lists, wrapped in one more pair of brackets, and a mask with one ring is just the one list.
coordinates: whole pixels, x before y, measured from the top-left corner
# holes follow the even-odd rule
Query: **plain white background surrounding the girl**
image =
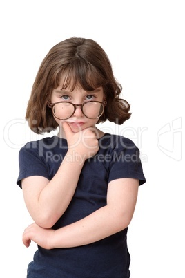
[(185, 277), (184, 14), (179, 0), (1, 1), (1, 277), (25, 278), (36, 249), (21, 242), (32, 220), (16, 185), (18, 152), (38, 138), (24, 116), (41, 60), (72, 36), (106, 50), (133, 112), (121, 127), (99, 125), (133, 139), (147, 179), (128, 231), (131, 278)]

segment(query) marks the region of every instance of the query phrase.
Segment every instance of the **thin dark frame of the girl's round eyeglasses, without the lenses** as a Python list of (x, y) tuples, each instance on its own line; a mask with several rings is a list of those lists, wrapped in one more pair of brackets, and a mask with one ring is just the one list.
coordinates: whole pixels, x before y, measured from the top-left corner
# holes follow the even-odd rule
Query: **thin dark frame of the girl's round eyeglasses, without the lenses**
[[(55, 103), (48, 102), (48, 106), (52, 109), (53, 115), (55, 115), (55, 113), (53, 112), (53, 108), (54, 108), (54, 106), (55, 106), (56, 104), (58, 104), (58, 103), (69, 103), (69, 104), (72, 104), (72, 106), (74, 107), (74, 112), (72, 113), (72, 115), (74, 115), (74, 113), (75, 113), (77, 107), (81, 107), (81, 112), (83, 113), (83, 115), (84, 115), (86, 118), (88, 118), (88, 119), (98, 119), (99, 117), (101, 117), (101, 115), (103, 115), (104, 109), (103, 109), (101, 115), (99, 115), (97, 118), (89, 118), (89, 117), (87, 117), (87, 116), (84, 114), (83, 106), (84, 106), (86, 103), (90, 103), (90, 102), (97, 102), (97, 103), (100, 103), (100, 104), (102, 104), (103, 107), (105, 107), (106, 104), (107, 104), (106, 100), (104, 100), (104, 102), (99, 102), (99, 101), (97, 101), (97, 100), (90, 100), (90, 101), (84, 102), (84, 103), (82, 103), (82, 104), (74, 104), (74, 103), (72, 103), (72, 102), (55, 102)], [(72, 117), (72, 115), (70, 115), (70, 117)], [(55, 115), (55, 118), (57, 118), (57, 119), (59, 119), (59, 120), (68, 120), (70, 117), (61, 119), (61, 118), (58, 118), (58, 117)]]

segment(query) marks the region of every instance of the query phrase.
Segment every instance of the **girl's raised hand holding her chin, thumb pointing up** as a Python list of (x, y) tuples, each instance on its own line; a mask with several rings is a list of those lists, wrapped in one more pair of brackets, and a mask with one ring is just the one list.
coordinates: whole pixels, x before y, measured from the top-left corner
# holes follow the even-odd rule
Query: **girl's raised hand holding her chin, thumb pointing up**
[(72, 132), (67, 122), (63, 122), (62, 127), (68, 141), (70, 154), (77, 154), (84, 160), (97, 154), (99, 144), (95, 128), (89, 127), (77, 133)]

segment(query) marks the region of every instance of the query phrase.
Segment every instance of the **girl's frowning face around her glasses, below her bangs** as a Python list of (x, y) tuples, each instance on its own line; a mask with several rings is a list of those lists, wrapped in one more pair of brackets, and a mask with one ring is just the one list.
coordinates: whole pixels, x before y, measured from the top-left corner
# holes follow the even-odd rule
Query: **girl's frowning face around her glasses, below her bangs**
[[(104, 91), (102, 87), (95, 89), (94, 91), (85, 91), (79, 86), (75, 87), (74, 91), (70, 91), (69, 88), (61, 89), (61, 86), (58, 86), (57, 89), (54, 89), (51, 94), (50, 102), (71, 102), (72, 104), (84, 104), (89, 101), (104, 101)], [(65, 108), (66, 109), (66, 108)], [(68, 108), (67, 108), (68, 109)], [(85, 108), (84, 108), (85, 110)], [(79, 132), (88, 127), (95, 127), (95, 124), (99, 120), (87, 118), (81, 110), (81, 106), (75, 107), (75, 113), (66, 120), (59, 120), (54, 116), (56, 122), (59, 124), (61, 129), (62, 122), (68, 122), (70, 128), (73, 132)]]

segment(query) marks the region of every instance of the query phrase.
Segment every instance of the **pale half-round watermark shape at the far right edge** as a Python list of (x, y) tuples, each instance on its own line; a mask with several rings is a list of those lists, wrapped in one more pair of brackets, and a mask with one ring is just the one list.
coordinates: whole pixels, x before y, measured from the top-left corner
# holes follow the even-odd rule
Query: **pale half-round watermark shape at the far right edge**
[(157, 132), (158, 148), (174, 160), (182, 159), (182, 118), (165, 124)]

